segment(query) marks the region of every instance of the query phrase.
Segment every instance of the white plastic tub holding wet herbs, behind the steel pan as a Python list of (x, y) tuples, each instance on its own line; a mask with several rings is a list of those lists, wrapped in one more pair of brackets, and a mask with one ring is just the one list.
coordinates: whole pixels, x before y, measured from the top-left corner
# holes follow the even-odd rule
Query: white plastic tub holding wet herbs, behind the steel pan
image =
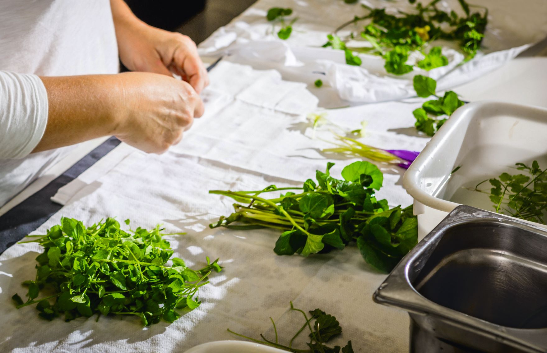
[[(418, 237), (426, 236), (459, 204), (493, 211), (487, 194), (467, 188), (503, 172), (516, 174), (515, 163), (530, 165), (534, 160), (547, 167), (547, 109), (492, 101), (465, 104), (403, 177), (414, 197)], [(489, 192), (490, 187), (486, 182), (479, 189)]]

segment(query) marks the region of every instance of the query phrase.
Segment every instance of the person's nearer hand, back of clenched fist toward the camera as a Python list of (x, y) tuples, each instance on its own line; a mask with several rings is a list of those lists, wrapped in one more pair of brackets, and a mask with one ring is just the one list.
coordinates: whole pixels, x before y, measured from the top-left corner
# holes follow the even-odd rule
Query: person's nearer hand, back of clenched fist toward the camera
[(185, 81), (153, 73), (118, 76), (123, 101), (115, 111), (119, 123), (114, 134), (133, 147), (163, 153), (203, 114), (201, 98)]

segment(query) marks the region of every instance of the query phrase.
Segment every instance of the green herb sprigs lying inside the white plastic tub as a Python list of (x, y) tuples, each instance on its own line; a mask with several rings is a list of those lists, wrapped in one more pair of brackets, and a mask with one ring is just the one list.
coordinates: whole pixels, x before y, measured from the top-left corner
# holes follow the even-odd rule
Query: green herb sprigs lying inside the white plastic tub
[(479, 185), (490, 182), (490, 200), (497, 213), (509, 214), (523, 220), (546, 224), (547, 212), (547, 168), (539, 167), (537, 161), (529, 167), (516, 163), (516, 169), (525, 174), (502, 173), (498, 178), (484, 180)]

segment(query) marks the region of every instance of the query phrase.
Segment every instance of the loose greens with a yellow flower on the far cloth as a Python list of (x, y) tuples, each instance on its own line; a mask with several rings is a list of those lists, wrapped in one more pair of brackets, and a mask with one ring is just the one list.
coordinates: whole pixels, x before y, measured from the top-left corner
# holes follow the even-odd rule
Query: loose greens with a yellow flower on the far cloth
[[(415, 3), (415, 0), (409, 2)], [(345, 50), (347, 63), (352, 65), (356, 64), (353, 51), (380, 55), (386, 60), (386, 71), (395, 75), (403, 75), (414, 69), (406, 63), (412, 51), (420, 51), (424, 55), (422, 60), (416, 62), (416, 66), (424, 70), (448, 64), (439, 46), (426, 52), (428, 46), (438, 39), (458, 42), (459, 48), (465, 54), (465, 60), (470, 60), (484, 38), (488, 10), (484, 9), (482, 14), (472, 13), (465, 0), (458, 2), (464, 16), (459, 16), (453, 10), (450, 13), (440, 10), (437, 7), (439, 0), (433, 0), (427, 5), (416, 3), (411, 14), (399, 11), (397, 15), (387, 14), (385, 8), (373, 9), (363, 4), (369, 13), (365, 16), (354, 16), (353, 20), (338, 27), (333, 34), (329, 34), (329, 42), (324, 46)], [(351, 32), (343, 39), (336, 36), (342, 28), (365, 20), (369, 22), (359, 33)], [(348, 48), (346, 43), (350, 40), (366, 40), (370, 46)], [(338, 42), (341, 44), (335, 44)]]

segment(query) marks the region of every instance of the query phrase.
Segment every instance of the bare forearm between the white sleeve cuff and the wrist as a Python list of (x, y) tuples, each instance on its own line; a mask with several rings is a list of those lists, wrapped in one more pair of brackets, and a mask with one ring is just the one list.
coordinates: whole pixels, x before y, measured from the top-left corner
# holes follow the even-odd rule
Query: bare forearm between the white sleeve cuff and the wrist
[(117, 133), (124, 87), (117, 75), (40, 77), (48, 92), (48, 122), (33, 152)]

